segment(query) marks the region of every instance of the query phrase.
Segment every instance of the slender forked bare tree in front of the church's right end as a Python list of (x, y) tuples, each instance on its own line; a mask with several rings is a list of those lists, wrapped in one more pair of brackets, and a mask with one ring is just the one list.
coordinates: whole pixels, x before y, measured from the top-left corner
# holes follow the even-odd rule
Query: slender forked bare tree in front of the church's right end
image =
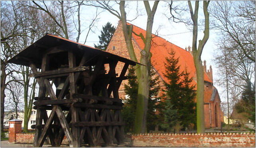
[(195, 63), (195, 69), (197, 73), (197, 132), (205, 132), (205, 115), (204, 115), (204, 72), (201, 60), (201, 55), (203, 52), (203, 47), (209, 39), (209, 13), (208, 6), (210, 1), (203, 1), (203, 12), (205, 15), (205, 29), (204, 36), (202, 40), (199, 40), (197, 47), (197, 33), (198, 33), (198, 10), (199, 1), (195, 2), (195, 10), (192, 8), (192, 4), (188, 1), (189, 10), (191, 14), (191, 19), (193, 21), (193, 41), (192, 41), (192, 52)]

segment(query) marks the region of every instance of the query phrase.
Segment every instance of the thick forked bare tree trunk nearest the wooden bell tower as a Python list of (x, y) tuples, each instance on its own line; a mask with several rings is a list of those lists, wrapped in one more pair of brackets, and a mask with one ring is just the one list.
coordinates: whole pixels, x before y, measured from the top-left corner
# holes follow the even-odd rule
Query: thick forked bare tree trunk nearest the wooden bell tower
[[(138, 62), (136, 55), (134, 53), (134, 48), (132, 45), (132, 25), (126, 24), (126, 12), (124, 10), (124, 1), (120, 1), (120, 13), (122, 21), (122, 29), (124, 33), (124, 38), (126, 41), (126, 47), (130, 58)], [(139, 36), (144, 42), (144, 50), (141, 51), (140, 63), (145, 66), (136, 64), (136, 76), (138, 79), (138, 99), (136, 105), (135, 123), (134, 123), (134, 133), (145, 133), (146, 132), (146, 115), (148, 111), (148, 97), (150, 88), (150, 58), (152, 54), (150, 53), (151, 39), (152, 39), (152, 26), (154, 22), (154, 15), (156, 13), (156, 8), (159, 1), (154, 2), (154, 6), (151, 10), (149, 2), (144, 1), (144, 6), (148, 15), (146, 37), (142, 34)]]

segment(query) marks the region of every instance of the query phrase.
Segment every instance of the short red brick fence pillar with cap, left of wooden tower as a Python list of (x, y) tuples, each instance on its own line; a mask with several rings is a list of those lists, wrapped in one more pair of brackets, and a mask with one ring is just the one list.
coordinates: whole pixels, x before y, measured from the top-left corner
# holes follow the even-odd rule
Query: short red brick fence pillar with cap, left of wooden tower
[(22, 132), (22, 120), (12, 119), (9, 121), (9, 143), (16, 142), (16, 134)]

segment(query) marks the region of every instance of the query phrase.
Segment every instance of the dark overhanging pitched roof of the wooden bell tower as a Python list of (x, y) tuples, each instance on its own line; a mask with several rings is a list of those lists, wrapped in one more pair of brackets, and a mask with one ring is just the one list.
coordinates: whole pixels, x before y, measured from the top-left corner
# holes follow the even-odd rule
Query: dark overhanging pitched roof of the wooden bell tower
[(78, 53), (82, 53), (83, 51), (86, 51), (88, 53), (88, 56), (91, 58), (95, 56), (102, 56), (106, 59), (118, 60), (120, 62), (125, 62), (131, 65), (140, 64), (133, 60), (130, 60), (118, 55), (114, 55), (112, 53), (108, 53), (106, 51), (102, 51), (100, 49), (96, 49), (94, 47), (90, 47), (81, 43), (77, 43), (69, 39), (57, 37), (51, 34), (46, 34), (45, 36), (41, 37), (41, 39), (37, 40), (32, 45), (22, 50), (20, 53), (18, 53), (17, 55), (12, 57), (10, 60), (8, 60), (8, 62), (29, 66), (30, 64), (29, 60), (31, 60), (32, 62), (35, 63), (37, 68), (41, 68), (41, 59), (42, 59), (43, 53), (51, 47), (56, 47), (61, 45), (70, 46), (72, 47), (71, 48), (72, 50), (75, 50)]

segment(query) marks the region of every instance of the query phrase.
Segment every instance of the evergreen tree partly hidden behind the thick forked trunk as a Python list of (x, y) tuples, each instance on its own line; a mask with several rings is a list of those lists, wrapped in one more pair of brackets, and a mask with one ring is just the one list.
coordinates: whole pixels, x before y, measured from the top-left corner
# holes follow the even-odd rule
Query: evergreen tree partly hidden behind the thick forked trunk
[[(138, 95), (138, 80), (136, 78), (136, 73), (133, 67), (128, 69), (128, 84), (124, 86), (124, 91), (128, 95), (126, 99), (124, 99), (124, 108), (122, 110), (122, 116), (124, 117), (125, 132), (132, 132), (134, 128), (134, 119), (135, 119), (135, 111), (137, 104), (137, 95)], [(154, 130), (155, 126), (159, 122), (159, 115), (156, 115), (156, 110), (160, 108), (160, 104), (157, 103), (160, 101), (158, 98), (158, 93), (160, 90), (159, 86), (159, 76), (156, 72), (151, 68), (150, 73), (150, 98), (148, 100), (148, 112), (147, 112), (147, 130)]]

